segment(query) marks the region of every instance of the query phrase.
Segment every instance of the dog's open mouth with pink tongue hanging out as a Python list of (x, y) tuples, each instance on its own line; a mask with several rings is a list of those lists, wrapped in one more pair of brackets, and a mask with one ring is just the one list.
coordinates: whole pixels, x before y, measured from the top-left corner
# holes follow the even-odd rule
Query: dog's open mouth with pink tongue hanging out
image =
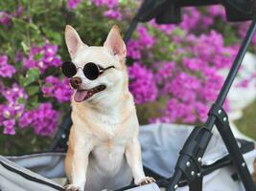
[(77, 102), (81, 102), (104, 90), (105, 90), (105, 85), (99, 85), (89, 90), (77, 90), (75, 93), (74, 99)]

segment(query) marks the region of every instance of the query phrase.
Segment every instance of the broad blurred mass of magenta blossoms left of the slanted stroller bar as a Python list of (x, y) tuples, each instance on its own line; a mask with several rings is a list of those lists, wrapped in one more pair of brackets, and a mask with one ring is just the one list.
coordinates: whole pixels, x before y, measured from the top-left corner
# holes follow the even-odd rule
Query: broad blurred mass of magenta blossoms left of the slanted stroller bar
[(170, 98), (162, 117), (151, 121), (203, 121), (223, 83), (217, 71), (231, 65), (237, 48), (225, 47), (221, 34), (215, 31), (185, 38), (175, 36), (174, 42), (180, 46), (174, 53), (179, 60), (154, 64), (159, 96)]

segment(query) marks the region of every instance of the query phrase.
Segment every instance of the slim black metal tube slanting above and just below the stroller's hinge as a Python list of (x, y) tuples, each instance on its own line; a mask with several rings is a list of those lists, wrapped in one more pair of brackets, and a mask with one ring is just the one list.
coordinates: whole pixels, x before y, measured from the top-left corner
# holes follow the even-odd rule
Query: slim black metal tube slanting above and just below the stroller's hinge
[[(221, 92), (219, 94), (219, 96), (217, 97), (217, 100), (216, 100), (216, 104), (222, 106), (223, 105), (223, 102), (230, 90), (230, 87), (236, 77), (236, 75), (238, 74), (238, 71), (239, 71), (239, 68), (242, 64), (242, 61), (244, 59), (244, 54), (246, 53), (247, 49), (248, 49), (248, 46), (250, 44), (250, 41), (253, 37), (253, 34), (254, 32), (256, 31), (256, 20), (252, 21), (251, 22), (251, 25), (245, 35), (245, 38), (244, 38), (244, 42), (239, 50), (239, 53), (237, 54), (235, 60), (234, 60), (234, 63), (232, 65), (232, 68), (231, 70), (229, 71), (226, 79), (225, 79), (225, 82), (224, 84), (222, 85), (222, 88), (221, 88)], [(214, 124), (215, 124), (215, 120), (216, 120), (216, 117), (214, 116), (209, 116), (207, 118), (207, 121), (205, 122), (204, 126), (209, 129), (209, 130), (212, 130)]]

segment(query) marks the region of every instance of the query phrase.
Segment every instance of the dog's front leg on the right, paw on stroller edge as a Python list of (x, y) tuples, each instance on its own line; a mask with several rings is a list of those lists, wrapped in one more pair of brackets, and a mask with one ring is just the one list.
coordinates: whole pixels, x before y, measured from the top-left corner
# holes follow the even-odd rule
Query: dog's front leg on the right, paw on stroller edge
[(151, 177), (146, 177), (143, 171), (141, 159), (141, 147), (138, 138), (133, 138), (126, 147), (126, 157), (132, 171), (134, 183), (142, 185), (155, 181)]

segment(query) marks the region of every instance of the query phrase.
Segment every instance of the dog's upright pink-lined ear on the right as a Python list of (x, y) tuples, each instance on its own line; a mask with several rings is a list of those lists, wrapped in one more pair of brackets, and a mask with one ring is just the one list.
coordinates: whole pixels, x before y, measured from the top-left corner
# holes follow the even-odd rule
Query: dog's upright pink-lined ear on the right
[(104, 47), (109, 53), (118, 56), (120, 61), (124, 60), (127, 56), (126, 44), (116, 25), (114, 25), (108, 33)]

